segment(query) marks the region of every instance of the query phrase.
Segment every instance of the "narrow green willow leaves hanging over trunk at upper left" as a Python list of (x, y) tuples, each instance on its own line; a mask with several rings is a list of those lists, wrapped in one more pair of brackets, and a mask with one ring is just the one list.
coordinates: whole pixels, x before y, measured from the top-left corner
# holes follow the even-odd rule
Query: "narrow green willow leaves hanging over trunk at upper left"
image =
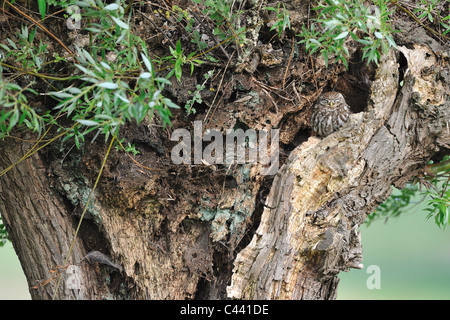
[[(76, 146), (84, 142), (85, 136), (96, 131), (105, 138), (115, 132), (127, 121), (140, 123), (147, 116), (158, 114), (163, 125), (170, 124), (169, 108), (178, 108), (170, 99), (163, 96), (165, 85), (171, 82), (159, 77), (147, 56), (145, 42), (133, 35), (120, 1), (105, 5), (100, 0), (78, 1), (84, 8), (84, 14), (92, 19), (87, 30), (92, 34), (90, 50), (76, 48), (75, 67), (78, 74), (63, 78), (71, 85), (59, 91), (47, 93), (59, 101), (55, 108), (78, 123), (68, 129), (65, 140), (74, 138)], [(88, 20), (88, 19), (87, 19)], [(33, 40), (36, 30), (31, 32), (23, 27), (19, 34), (19, 44), (8, 39), (8, 45), (2, 44), (5, 54), (0, 57), (3, 62), (14, 59), (22, 62), (22, 70), (40, 76), (39, 71), (44, 64), (45, 46), (35, 46)], [(177, 47), (173, 54), (182, 53)], [(110, 56), (117, 57), (114, 61)], [(174, 71), (181, 77), (181, 65), (187, 62), (184, 55), (177, 56)], [(188, 59), (192, 57), (189, 56)], [(197, 60), (195, 60), (197, 62)], [(193, 61), (191, 61), (193, 63)], [(0, 68), (1, 68), (0, 65)], [(170, 76), (170, 73), (169, 73)], [(61, 79), (58, 79), (61, 80)], [(50, 112), (39, 115), (29, 107), (25, 92), (38, 93), (31, 87), (22, 88), (12, 79), (4, 79), (0, 75), (0, 132), (6, 136), (16, 125), (25, 123), (30, 129), (41, 132), (47, 123), (53, 123)]]

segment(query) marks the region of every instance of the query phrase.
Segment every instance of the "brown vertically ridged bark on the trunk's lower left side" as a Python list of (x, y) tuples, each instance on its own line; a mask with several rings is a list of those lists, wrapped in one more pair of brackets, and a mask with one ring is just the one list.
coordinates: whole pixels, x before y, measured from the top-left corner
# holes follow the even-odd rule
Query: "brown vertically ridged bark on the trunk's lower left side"
[[(0, 167), (7, 168), (19, 161), (31, 146), (22, 142), (2, 142)], [(76, 221), (51, 189), (47, 165), (41, 157), (26, 159), (2, 177), (0, 199), (2, 219), (33, 299), (94, 299), (105, 291), (98, 286), (97, 272), (81, 263), (86, 250), (80, 238), (76, 239), (68, 261), (72, 267), (67, 268), (64, 263)], [(70, 278), (74, 272), (77, 274)], [(47, 281), (53, 285), (46, 285)], [(82, 285), (71, 290), (71, 284), (78, 287), (78, 281)], [(57, 282), (61, 283), (58, 290)]]

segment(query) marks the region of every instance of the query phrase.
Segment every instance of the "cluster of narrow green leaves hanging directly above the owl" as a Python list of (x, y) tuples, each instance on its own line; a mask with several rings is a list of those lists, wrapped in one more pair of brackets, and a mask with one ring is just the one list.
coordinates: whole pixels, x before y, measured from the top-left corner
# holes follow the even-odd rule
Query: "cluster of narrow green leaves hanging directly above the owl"
[(325, 65), (331, 58), (348, 67), (348, 41), (360, 43), (362, 58), (367, 63), (378, 61), (389, 47), (395, 47), (394, 30), (389, 21), (391, 11), (386, 0), (373, 0), (373, 6), (366, 6), (358, 0), (324, 0), (313, 8), (317, 18), (312, 19), (309, 28), (303, 25), (299, 34), (309, 54), (319, 52)]

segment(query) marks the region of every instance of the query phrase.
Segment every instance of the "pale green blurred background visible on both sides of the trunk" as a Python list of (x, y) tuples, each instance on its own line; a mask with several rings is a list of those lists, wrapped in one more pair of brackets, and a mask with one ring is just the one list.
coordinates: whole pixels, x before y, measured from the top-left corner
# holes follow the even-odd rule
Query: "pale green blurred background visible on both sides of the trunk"
[[(415, 211), (361, 226), (364, 268), (340, 274), (338, 299), (450, 299), (450, 230), (425, 216)], [(366, 285), (370, 265), (380, 268), (380, 289)], [(0, 248), (0, 299), (30, 299), (10, 243)]]

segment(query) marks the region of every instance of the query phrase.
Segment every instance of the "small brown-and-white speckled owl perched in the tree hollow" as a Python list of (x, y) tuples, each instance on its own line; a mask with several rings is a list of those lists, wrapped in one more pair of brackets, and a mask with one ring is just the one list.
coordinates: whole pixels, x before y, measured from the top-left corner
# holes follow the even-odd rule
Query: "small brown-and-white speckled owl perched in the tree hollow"
[(350, 107), (342, 94), (325, 92), (314, 105), (311, 127), (317, 135), (326, 137), (346, 123), (350, 113)]

